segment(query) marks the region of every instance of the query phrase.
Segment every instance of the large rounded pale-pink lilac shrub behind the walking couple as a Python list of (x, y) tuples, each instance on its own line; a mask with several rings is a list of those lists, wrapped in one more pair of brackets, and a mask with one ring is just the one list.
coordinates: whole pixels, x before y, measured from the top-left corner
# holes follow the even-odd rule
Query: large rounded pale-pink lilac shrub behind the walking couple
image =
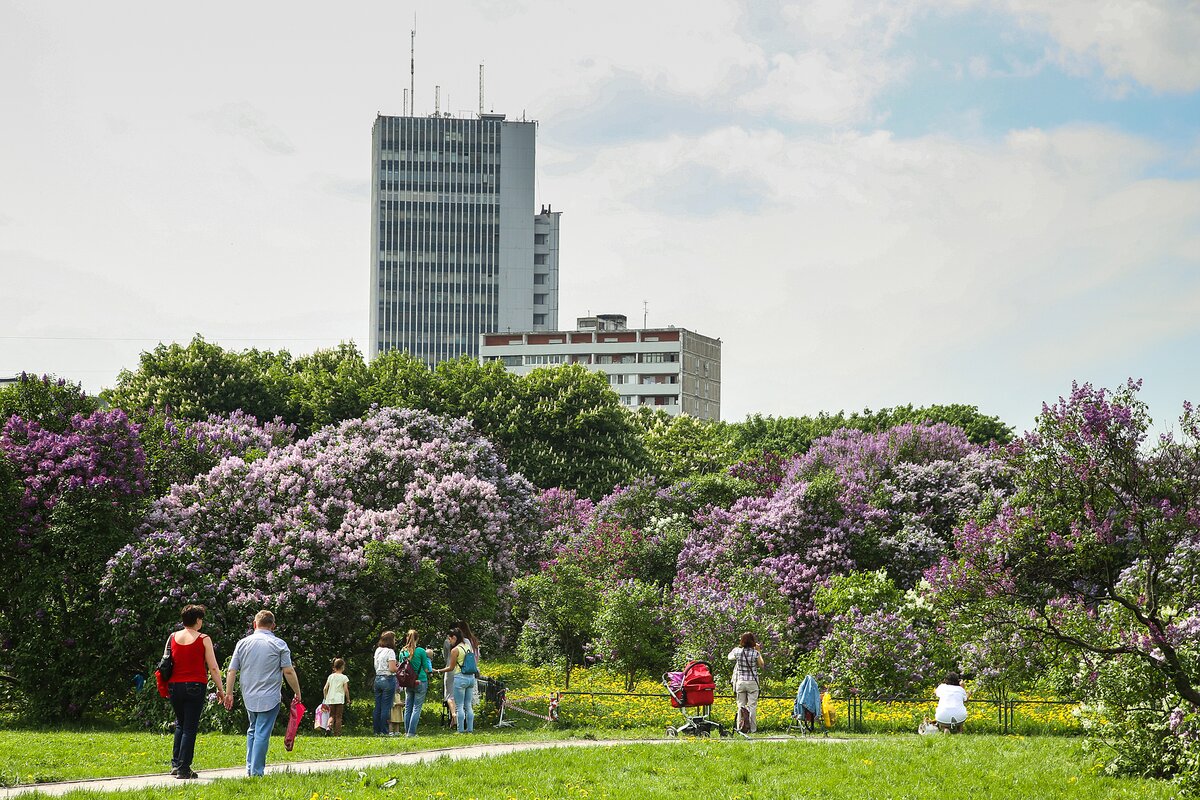
[[(229, 446), (223, 431), (210, 440)], [(236, 441), (251, 452), (274, 435), (242, 431)], [(448, 616), (493, 609), (538, 545), (530, 494), (467, 422), (377, 410), (173, 486), (108, 565), (109, 621), (142, 657), (186, 602), (208, 604), (229, 640), (271, 608), (308, 666), (301, 676), (318, 680), (329, 657), (366, 649), (383, 627), (449, 621), (395, 619), (412, 585), (454, 599), (433, 604)]]

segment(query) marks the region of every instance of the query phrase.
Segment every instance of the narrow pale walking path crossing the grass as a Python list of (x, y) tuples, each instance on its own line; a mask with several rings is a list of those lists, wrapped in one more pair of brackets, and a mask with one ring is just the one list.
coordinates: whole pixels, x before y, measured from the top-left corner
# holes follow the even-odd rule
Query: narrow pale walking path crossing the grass
[[(763, 736), (755, 738), (754, 741), (792, 741), (792, 736)], [(554, 747), (611, 747), (613, 745), (666, 745), (680, 741), (679, 739), (565, 739), (563, 741), (515, 741), (503, 745), (468, 745), (466, 747), (439, 747), (437, 750), (420, 750), (407, 753), (390, 753), (385, 756), (358, 756), (354, 758), (332, 758), (319, 762), (290, 762), (287, 764), (268, 764), (266, 774), (277, 775), (281, 772), (326, 772), (332, 770), (365, 769), (368, 766), (402, 766), (406, 764), (422, 764), (437, 760), (438, 758), (450, 758), (462, 760), (480, 758), (482, 756), (505, 756), (527, 750), (550, 750)], [(812, 736), (806, 741), (842, 741), (838, 739), (826, 739)], [(91, 792), (118, 792), (121, 789), (144, 789), (148, 787), (174, 787), (184, 788), (196, 783), (211, 783), (212, 781), (244, 778), (245, 766), (232, 766), (218, 770), (204, 770), (199, 778), (194, 781), (180, 781), (170, 775), (132, 775), (127, 777), (107, 777), (95, 781), (62, 781), (61, 783), (30, 783), (0, 789), (0, 800), (29, 795), (40, 792), (43, 795), (62, 795), (67, 792), (88, 789)]]

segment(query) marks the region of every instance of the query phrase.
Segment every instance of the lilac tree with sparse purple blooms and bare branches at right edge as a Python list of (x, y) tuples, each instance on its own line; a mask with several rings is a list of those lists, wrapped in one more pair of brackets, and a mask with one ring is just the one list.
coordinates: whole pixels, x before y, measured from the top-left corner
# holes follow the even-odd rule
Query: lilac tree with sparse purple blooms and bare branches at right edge
[[(994, 636), (1074, 654), (1114, 771), (1194, 775), (1200, 708), (1200, 426), (1146, 443), (1129, 381), (1074, 385), (1008, 447), (1016, 494), (955, 531), (928, 572)], [(1116, 676), (1114, 676), (1116, 675)], [(1194, 778), (1184, 778), (1194, 780)]]

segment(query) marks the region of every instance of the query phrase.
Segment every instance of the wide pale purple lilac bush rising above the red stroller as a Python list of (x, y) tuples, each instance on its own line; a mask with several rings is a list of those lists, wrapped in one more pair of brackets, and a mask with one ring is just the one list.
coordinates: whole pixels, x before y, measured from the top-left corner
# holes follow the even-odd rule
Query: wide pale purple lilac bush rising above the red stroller
[(912, 587), (948, 551), (956, 522), (1010, 491), (998, 453), (944, 423), (838, 431), (782, 471), (773, 492), (696, 515), (677, 585), (688, 591), (698, 577), (726, 588), (750, 575), (770, 581), (787, 601), (787, 638), (798, 649), (828, 630), (814, 603), (822, 583), (887, 569), (901, 588)]

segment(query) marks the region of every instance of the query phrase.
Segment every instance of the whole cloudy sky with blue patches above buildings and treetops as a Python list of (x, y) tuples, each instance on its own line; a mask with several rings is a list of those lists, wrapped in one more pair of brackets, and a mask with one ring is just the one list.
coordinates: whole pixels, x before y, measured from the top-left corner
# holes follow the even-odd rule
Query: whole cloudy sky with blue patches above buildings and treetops
[(366, 350), (371, 126), (539, 121), (560, 326), (722, 341), (722, 417), (1200, 401), (1196, 0), (0, 0), (0, 375)]

